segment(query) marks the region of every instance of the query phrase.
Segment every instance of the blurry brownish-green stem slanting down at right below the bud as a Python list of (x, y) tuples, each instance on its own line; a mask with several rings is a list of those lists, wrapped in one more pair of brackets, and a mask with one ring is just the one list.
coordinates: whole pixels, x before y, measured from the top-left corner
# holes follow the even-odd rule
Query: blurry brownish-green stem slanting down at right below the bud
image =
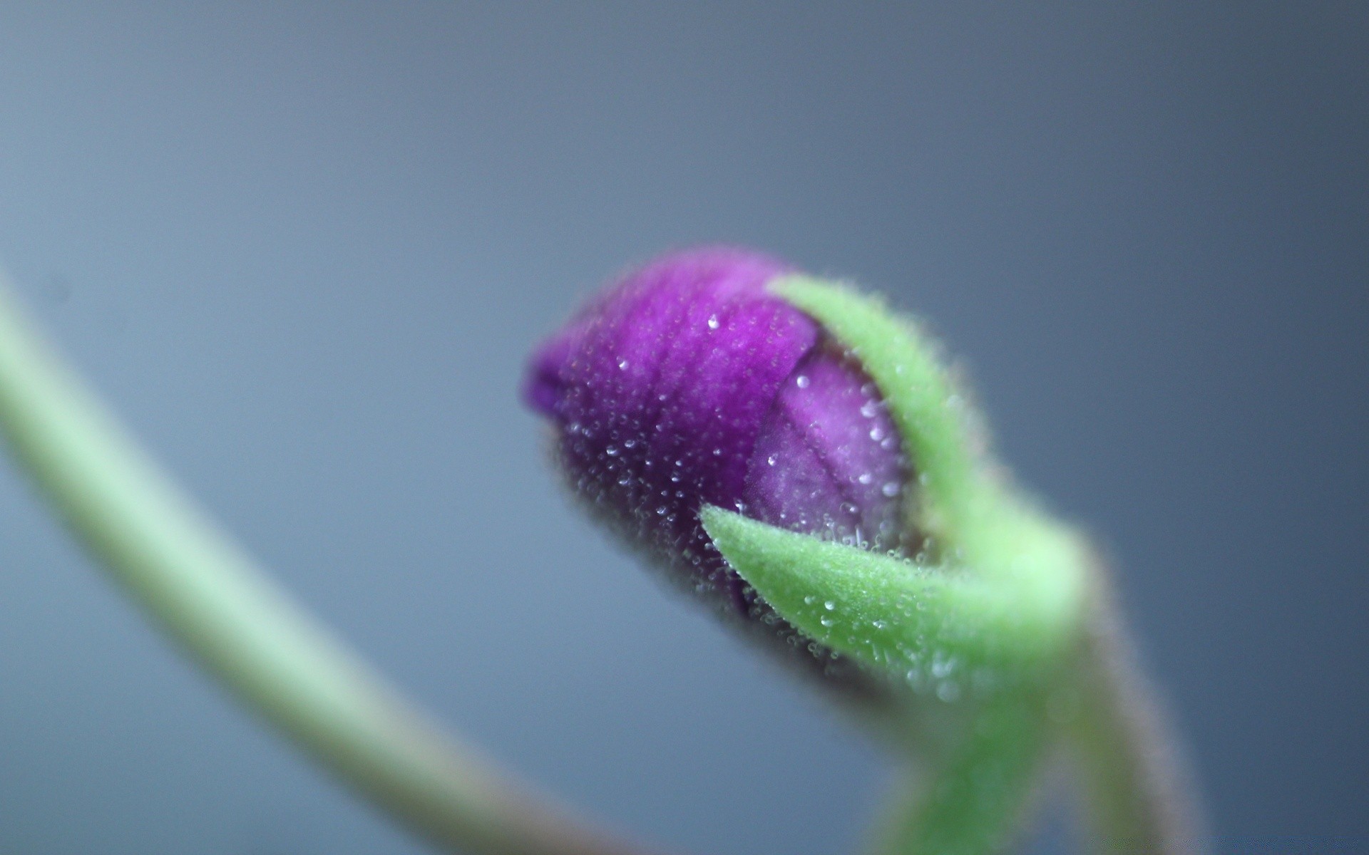
[(1099, 855), (1199, 855), (1195, 787), (1136, 662), (1102, 570), (1095, 572), (1066, 733)]

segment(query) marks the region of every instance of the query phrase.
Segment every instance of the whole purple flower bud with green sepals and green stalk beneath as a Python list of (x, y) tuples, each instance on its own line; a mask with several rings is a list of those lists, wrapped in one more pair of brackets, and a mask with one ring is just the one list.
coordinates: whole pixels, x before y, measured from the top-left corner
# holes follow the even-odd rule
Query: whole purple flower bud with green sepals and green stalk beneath
[(601, 521), (932, 759), (882, 848), (1006, 839), (1061, 732), (1045, 699), (1095, 653), (1091, 558), (995, 472), (916, 321), (697, 249), (593, 300), (523, 391)]

